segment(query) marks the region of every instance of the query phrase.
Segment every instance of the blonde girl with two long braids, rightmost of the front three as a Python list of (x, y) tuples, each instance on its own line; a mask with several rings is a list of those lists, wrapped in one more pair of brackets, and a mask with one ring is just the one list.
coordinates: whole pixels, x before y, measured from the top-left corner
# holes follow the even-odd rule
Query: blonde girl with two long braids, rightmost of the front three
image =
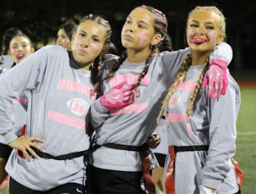
[[(198, 6), (187, 19), (187, 53), (175, 82), (163, 100), (158, 121), (166, 111), (168, 155), (165, 162), (167, 194), (240, 193), (231, 157), (240, 91), (228, 74), (226, 95), (209, 98), (201, 89), (215, 45), (226, 39), (226, 23), (215, 6)], [(216, 63), (223, 63), (219, 59)], [(237, 172), (238, 173), (238, 172)]]

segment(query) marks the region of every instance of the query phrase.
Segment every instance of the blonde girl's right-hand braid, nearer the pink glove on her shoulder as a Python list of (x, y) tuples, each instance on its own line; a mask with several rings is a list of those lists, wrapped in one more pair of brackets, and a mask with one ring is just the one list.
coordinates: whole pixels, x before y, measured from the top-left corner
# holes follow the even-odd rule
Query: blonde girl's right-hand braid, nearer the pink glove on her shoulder
[(204, 78), (204, 76), (207, 72), (207, 69), (209, 67), (209, 60), (210, 60), (210, 56), (207, 57), (207, 64), (201, 70), (200, 75), (199, 75), (199, 80), (195, 84), (195, 90), (194, 90), (193, 94), (191, 95), (191, 98), (188, 101), (189, 103), (188, 103), (188, 109), (187, 109), (187, 118), (189, 118), (191, 116), (191, 113), (192, 113), (192, 110), (194, 107), (194, 103), (195, 103), (195, 99), (199, 95), (200, 88), (203, 84), (203, 78)]

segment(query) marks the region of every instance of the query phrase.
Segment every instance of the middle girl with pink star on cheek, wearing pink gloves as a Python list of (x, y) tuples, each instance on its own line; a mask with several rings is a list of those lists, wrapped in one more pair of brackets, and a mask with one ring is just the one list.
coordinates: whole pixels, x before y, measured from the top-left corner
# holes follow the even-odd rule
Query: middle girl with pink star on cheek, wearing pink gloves
[[(150, 150), (144, 143), (156, 129), (161, 102), (190, 51), (186, 48), (155, 55), (166, 31), (167, 19), (162, 12), (151, 6), (136, 7), (128, 15), (121, 33), (127, 50), (120, 57), (104, 61), (101, 81), (95, 87), (103, 96), (91, 106), (91, 123), (96, 130), (89, 158), (92, 193), (146, 193), (142, 188), (148, 193), (156, 192), (149, 174), (149, 162), (156, 160), (153, 154), (148, 154)], [(218, 58), (228, 64), (230, 60), (225, 56), (231, 58), (232, 51), (222, 43), (215, 48), (211, 60)], [(226, 65), (222, 68), (211, 63), (211, 66), (208, 75), (211, 81), (216, 81), (219, 94), (223, 86), (215, 79), (215, 69), (221, 83), (226, 78), (223, 76)], [(212, 97), (216, 95), (215, 89), (212, 87)], [(152, 167), (156, 166), (152, 164)], [(143, 175), (145, 184), (140, 185)]]

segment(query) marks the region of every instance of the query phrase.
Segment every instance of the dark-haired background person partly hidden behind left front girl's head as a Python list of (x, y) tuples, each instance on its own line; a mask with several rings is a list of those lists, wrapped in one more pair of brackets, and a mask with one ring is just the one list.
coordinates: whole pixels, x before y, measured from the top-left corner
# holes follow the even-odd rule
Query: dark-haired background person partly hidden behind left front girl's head
[(71, 37), (76, 29), (76, 25), (73, 22), (65, 22), (57, 31), (56, 45), (60, 45), (63, 48), (71, 49)]

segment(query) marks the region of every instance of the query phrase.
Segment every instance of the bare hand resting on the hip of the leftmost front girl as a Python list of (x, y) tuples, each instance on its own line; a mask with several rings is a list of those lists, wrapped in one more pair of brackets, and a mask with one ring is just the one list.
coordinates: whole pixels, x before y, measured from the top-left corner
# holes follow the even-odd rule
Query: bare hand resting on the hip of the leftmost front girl
[(23, 156), (28, 161), (31, 161), (30, 155), (32, 155), (33, 157), (35, 157), (37, 159), (40, 159), (40, 157), (38, 157), (37, 153), (34, 152), (32, 147), (35, 149), (38, 149), (41, 152), (45, 152), (45, 149), (43, 149), (40, 145), (37, 145), (34, 142), (44, 143), (45, 140), (43, 140), (41, 138), (37, 138), (37, 137), (25, 138), (24, 136), (21, 136), (21, 137), (16, 138), (13, 142), (10, 142), (9, 145), (10, 145), (10, 147), (12, 147), (14, 149), (18, 149), (18, 150), (22, 151)]

